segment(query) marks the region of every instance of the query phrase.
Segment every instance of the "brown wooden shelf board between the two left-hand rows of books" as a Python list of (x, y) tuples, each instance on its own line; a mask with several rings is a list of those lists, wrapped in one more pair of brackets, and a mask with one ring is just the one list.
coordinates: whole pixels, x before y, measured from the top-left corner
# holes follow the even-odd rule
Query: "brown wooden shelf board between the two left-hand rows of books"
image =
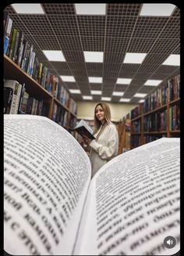
[[(43, 86), (41, 86), (34, 78), (30, 77), (24, 70), (22, 70), (16, 63), (9, 59), (8, 56), (4, 55), (4, 78), (19, 81), (20, 84), (25, 83), (27, 93), (31, 97), (37, 100), (43, 100), (44, 103), (48, 103), (48, 118), (53, 119), (54, 105), (61, 106), (65, 111), (68, 112), (69, 117), (76, 118), (69, 108), (63, 105), (58, 99), (53, 96), (53, 92), (48, 92)], [(73, 128), (69, 125), (65, 125), (68, 129)]]

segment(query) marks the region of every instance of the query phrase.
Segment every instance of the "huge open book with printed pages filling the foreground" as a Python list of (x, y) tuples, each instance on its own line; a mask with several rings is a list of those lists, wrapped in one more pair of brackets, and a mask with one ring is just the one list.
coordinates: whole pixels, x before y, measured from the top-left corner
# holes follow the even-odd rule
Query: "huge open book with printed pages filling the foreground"
[[(179, 139), (90, 160), (47, 117), (4, 116), (4, 249), (13, 255), (172, 255), (180, 248)], [(166, 236), (176, 245), (168, 249)]]

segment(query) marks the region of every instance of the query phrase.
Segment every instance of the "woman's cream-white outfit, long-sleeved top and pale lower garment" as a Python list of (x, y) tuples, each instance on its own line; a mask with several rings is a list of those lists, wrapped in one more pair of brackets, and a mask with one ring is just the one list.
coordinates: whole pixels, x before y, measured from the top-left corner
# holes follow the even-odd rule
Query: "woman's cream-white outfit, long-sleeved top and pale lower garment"
[[(101, 128), (98, 130), (100, 132)], [(97, 136), (98, 132), (94, 135)], [(104, 164), (117, 156), (119, 150), (119, 134), (115, 124), (109, 123), (99, 138), (90, 142), (90, 163), (92, 177)]]

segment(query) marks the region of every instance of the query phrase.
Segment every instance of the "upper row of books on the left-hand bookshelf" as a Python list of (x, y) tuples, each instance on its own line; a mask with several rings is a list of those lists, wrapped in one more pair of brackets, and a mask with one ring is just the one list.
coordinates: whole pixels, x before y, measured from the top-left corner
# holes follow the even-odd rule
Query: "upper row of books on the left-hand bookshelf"
[(39, 62), (34, 51), (34, 45), (24, 38), (23, 31), (12, 27), (9, 13), (4, 16), (4, 54), (12, 59), (23, 71), (34, 78), (43, 88), (55, 96), (64, 106), (76, 114), (76, 103), (69, 99), (69, 92), (58, 81), (58, 77), (51, 74), (48, 67)]

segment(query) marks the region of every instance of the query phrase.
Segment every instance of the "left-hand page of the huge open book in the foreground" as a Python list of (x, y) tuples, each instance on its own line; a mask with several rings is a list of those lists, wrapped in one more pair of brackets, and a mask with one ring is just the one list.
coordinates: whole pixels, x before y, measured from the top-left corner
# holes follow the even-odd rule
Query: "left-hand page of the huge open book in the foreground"
[(4, 249), (72, 254), (90, 183), (90, 160), (47, 117), (4, 116)]

